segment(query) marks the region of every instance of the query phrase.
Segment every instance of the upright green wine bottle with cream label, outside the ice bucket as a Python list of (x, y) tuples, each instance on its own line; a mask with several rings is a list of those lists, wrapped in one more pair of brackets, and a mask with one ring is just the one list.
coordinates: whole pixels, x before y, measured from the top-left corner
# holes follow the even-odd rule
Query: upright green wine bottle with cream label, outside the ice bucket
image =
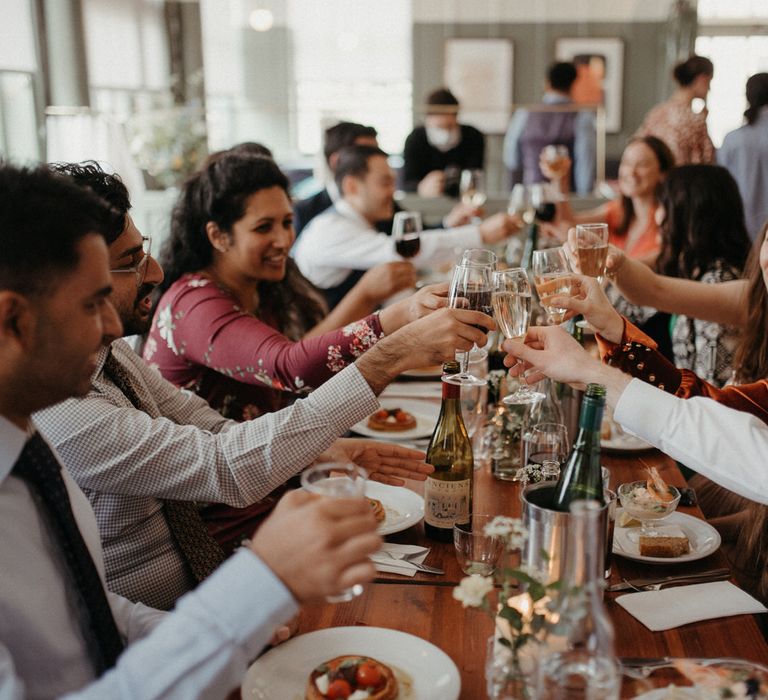
[[(459, 363), (443, 364), (444, 374), (458, 374)], [(443, 382), (443, 402), (427, 448), (427, 464), (435, 471), (424, 484), (424, 532), (453, 542), (455, 523), (468, 523), (472, 513), (472, 442), (461, 417), (461, 387)]]

